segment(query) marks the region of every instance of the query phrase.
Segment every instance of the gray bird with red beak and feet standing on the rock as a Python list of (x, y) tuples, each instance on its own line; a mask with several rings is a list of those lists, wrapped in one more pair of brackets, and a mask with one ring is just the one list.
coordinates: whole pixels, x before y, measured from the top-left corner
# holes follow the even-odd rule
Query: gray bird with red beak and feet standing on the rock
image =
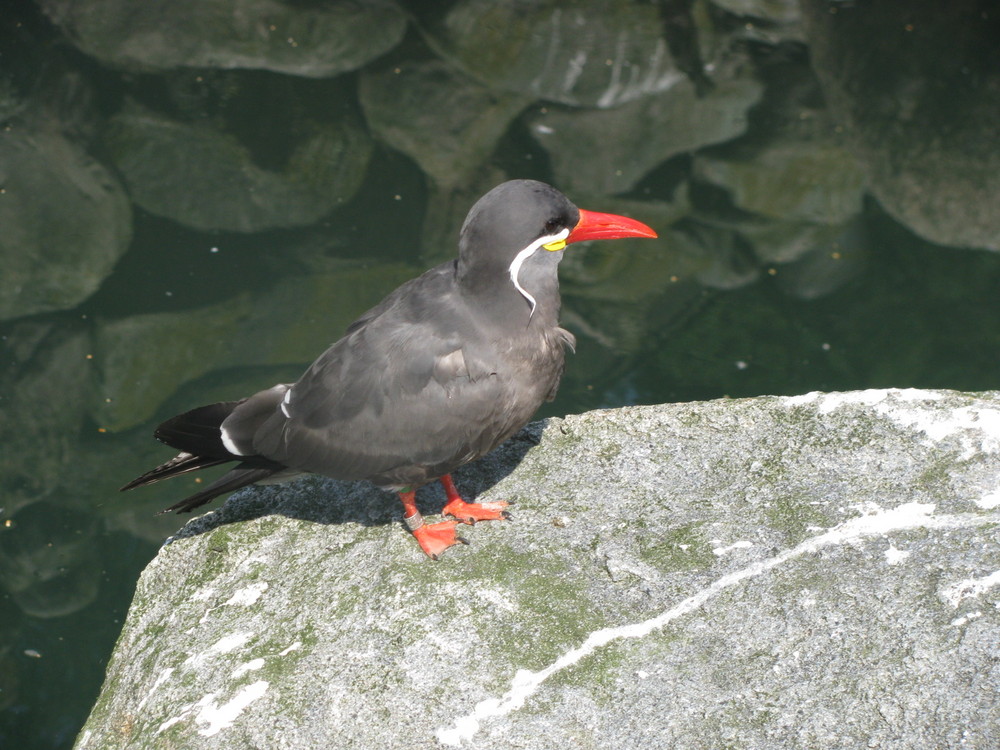
[[(559, 326), (557, 267), (586, 240), (655, 238), (625, 216), (577, 208), (535, 180), (494, 187), (471, 208), (458, 256), (390, 293), (351, 323), (294, 383), (201, 406), (160, 424), (180, 451), (122, 491), (222, 464), (204, 489), (161, 511), (303, 473), (368, 480), (399, 494), (403, 521), (437, 560), (467, 543), (458, 524), (509, 519), (504, 501), (465, 502), (451, 474), (480, 458), (555, 397), (573, 335)], [(420, 486), (447, 501), (427, 523)]]

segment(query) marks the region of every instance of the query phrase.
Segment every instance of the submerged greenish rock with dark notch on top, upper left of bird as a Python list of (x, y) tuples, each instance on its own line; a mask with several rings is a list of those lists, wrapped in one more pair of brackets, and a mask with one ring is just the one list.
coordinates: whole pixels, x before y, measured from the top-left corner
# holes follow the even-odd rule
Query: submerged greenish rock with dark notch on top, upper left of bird
[(371, 141), (352, 118), (311, 123), (280, 169), (257, 165), (235, 135), (139, 105), (112, 118), (106, 142), (133, 200), (194, 229), (256, 232), (312, 224), (351, 198)]

